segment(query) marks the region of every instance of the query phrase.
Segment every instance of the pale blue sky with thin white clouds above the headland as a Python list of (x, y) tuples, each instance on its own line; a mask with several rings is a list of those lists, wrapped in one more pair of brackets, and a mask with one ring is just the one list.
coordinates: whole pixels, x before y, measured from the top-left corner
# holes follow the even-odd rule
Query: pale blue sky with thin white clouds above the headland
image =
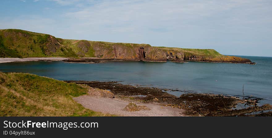
[(0, 29), (272, 57), (271, 0), (1, 0)]

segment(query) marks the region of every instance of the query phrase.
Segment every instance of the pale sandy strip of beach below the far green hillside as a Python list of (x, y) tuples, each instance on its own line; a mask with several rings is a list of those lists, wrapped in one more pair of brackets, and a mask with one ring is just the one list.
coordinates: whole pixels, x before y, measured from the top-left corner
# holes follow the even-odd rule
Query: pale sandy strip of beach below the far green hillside
[(56, 58), (56, 57), (46, 57), (46, 58), (0, 58), (0, 63), (7, 62), (23, 62), (23, 61), (62, 61), (70, 58)]

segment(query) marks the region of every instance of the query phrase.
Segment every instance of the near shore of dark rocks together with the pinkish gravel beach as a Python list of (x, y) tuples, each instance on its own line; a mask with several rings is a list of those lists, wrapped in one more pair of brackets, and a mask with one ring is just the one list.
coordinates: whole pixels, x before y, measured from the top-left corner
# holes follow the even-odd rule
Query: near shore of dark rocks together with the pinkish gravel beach
[[(88, 95), (74, 98), (83, 107), (121, 116), (263, 116), (264, 114), (271, 116), (269, 111), (272, 105), (259, 106), (257, 103), (261, 99), (254, 97), (240, 99), (236, 96), (190, 92), (177, 97), (165, 92), (164, 89), (124, 85), (118, 82), (65, 82), (76, 83), (89, 89)], [(106, 96), (101, 91), (111, 93), (111, 96)], [(145, 106), (150, 110), (123, 111), (129, 103)], [(244, 108), (236, 108), (238, 104), (243, 104)], [(158, 114), (159, 112), (164, 113)]]

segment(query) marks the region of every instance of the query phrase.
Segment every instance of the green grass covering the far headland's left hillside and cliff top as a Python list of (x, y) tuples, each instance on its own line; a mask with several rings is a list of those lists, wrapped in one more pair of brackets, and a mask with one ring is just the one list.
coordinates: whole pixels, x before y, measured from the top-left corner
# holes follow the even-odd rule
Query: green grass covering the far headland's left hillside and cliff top
[[(6, 32), (5, 35), (4, 35), (4, 32)], [(9, 35), (7, 36), (6, 34), (9, 34)], [(57, 51), (55, 54), (51, 54), (51, 55), (45, 54), (46, 47), (42, 47), (41, 45), (46, 43), (46, 40), (48, 40), (49, 37), (53, 37), (54, 39), (57, 39), (57, 41), (63, 46), (62, 51)], [(0, 53), (1, 51), (3, 51), (2, 53), (6, 54), (7, 55), (6, 57), (12, 57), (12, 56), (14, 57), (55, 57), (55, 56), (75, 57), (76, 56), (75, 53), (80, 51), (80, 49), (77, 48), (77, 44), (80, 41), (87, 41), (91, 43), (92, 45), (99, 44), (100, 46), (104, 46), (106, 48), (112, 47), (113, 45), (125, 46), (127, 48), (151, 47), (151, 45), (149, 44), (112, 43), (112, 42), (102, 42), (102, 41), (61, 39), (61, 38), (55, 38), (54, 36), (49, 34), (30, 32), (26, 30), (2, 29), (0, 30)], [(40, 47), (40, 49), (37, 47)], [(176, 48), (176, 47), (153, 47), (153, 48), (158, 48), (162, 50), (188, 52), (195, 55), (205, 55), (209, 57), (223, 56), (213, 49), (189, 49), (189, 48)], [(9, 55), (10, 53), (11, 55)], [(93, 53), (90, 53), (89, 56), (92, 56), (92, 55)]]

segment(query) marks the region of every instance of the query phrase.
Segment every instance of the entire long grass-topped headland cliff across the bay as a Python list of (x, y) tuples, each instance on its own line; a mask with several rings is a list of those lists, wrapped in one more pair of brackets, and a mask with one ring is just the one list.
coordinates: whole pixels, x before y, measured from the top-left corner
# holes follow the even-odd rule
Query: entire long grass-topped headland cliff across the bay
[(49, 34), (18, 29), (0, 30), (0, 57), (96, 57), (160, 62), (167, 60), (251, 62), (249, 59), (221, 55), (213, 49), (152, 47), (149, 44), (60, 39)]

